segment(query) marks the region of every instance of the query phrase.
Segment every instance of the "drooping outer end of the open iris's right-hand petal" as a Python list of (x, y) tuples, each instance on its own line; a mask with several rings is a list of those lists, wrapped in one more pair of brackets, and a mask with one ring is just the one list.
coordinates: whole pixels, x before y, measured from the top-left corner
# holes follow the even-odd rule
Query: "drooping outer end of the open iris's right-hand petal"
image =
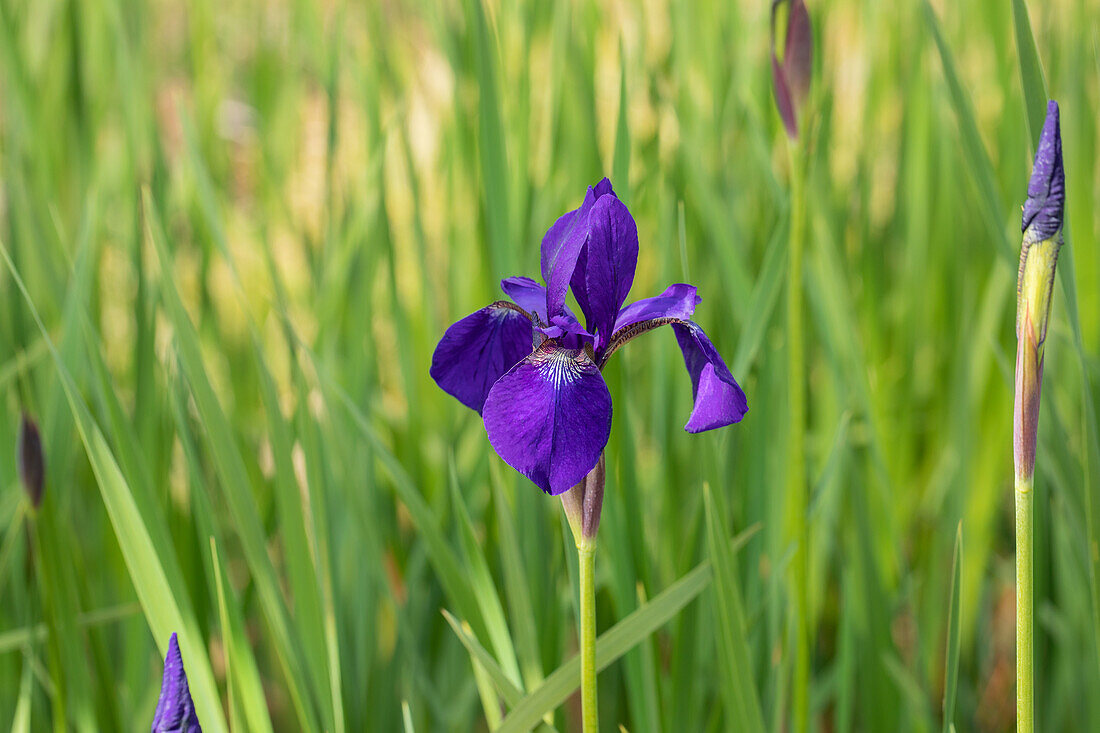
[(673, 324), (672, 330), (676, 332), (676, 341), (683, 351), (695, 400), (684, 429), (702, 433), (739, 423), (749, 409), (748, 400), (711, 339), (702, 328), (690, 321)]

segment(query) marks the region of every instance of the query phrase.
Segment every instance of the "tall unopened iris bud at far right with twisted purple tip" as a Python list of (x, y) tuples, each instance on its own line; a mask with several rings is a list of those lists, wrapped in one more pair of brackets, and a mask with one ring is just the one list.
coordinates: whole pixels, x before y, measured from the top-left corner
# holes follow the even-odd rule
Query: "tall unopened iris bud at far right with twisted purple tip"
[(1035, 472), (1043, 342), (1050, 317), (1054, 272), (1062, 248), (1066, 174), (1062, 164), (1058, 103), (1047, 106), (1046, 122), (1024, 204), (1023, 249), (1016, 294), (1016, 385), (1013, 449), (1016, 481), (1026, 485)]

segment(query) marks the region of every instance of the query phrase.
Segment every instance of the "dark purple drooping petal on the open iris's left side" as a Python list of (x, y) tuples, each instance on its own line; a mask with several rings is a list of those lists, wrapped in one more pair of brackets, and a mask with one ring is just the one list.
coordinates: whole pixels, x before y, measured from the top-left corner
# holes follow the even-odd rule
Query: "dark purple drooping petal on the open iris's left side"
[(493, 304), (453, 324), (431, 355), (431, 379), (466, 407), (482, 412), (493, 383), (531, 352), (534, 326)]

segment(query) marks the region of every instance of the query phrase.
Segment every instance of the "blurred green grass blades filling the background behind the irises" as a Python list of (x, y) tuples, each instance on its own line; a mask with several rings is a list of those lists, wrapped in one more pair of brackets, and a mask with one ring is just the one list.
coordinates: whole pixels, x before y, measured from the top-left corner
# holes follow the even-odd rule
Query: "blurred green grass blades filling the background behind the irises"
[(179, 631), (207, 731), (486, 730), (525, 703), (579, 730), (575, 697), (521, 700), (576, 650), (559, 503), (428, 365), (609, 175), (640, 233), (631, 299), (698, 285), (750, 412), (684, 433), (671, 332), (607, 369), (598, 625), (657, 628), (628, 627), (640, 644), (601, 675), (603, 727), (743, 730), (758, 700), (788, 730), (801, 620), (813, 730), (937, 730), (957, 601), (954, 721), (1012, 730), (1034, 31), (1068, 186), (1036, 710), (1040, 730), (1100, 729), (1100, 6), (1031, 6), (1028, 29), (1008, 0), (810, 4), (794, 609), (767, 1), (0, 1), (0, 725), (144, 729)]

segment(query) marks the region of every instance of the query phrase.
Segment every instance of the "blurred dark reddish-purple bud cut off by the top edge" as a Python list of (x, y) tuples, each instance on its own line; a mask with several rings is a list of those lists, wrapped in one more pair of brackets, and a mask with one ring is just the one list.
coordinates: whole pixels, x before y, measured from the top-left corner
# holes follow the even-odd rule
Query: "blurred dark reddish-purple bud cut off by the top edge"
[[(780, 29), (782, 6), (788, 6), (785, 28)], [(780, 32), (783, 46), (777, 47)], [(782, 59), (779, 57), (782, 54)], [(814, 33), (810, 13), (802, 0), (772, 0), (771, 3), (771, 79), (776, 106), (783, 118), (787, 134), (799, 136), (799, 114), (810, 96), (810, 76), (814, 65)]]

